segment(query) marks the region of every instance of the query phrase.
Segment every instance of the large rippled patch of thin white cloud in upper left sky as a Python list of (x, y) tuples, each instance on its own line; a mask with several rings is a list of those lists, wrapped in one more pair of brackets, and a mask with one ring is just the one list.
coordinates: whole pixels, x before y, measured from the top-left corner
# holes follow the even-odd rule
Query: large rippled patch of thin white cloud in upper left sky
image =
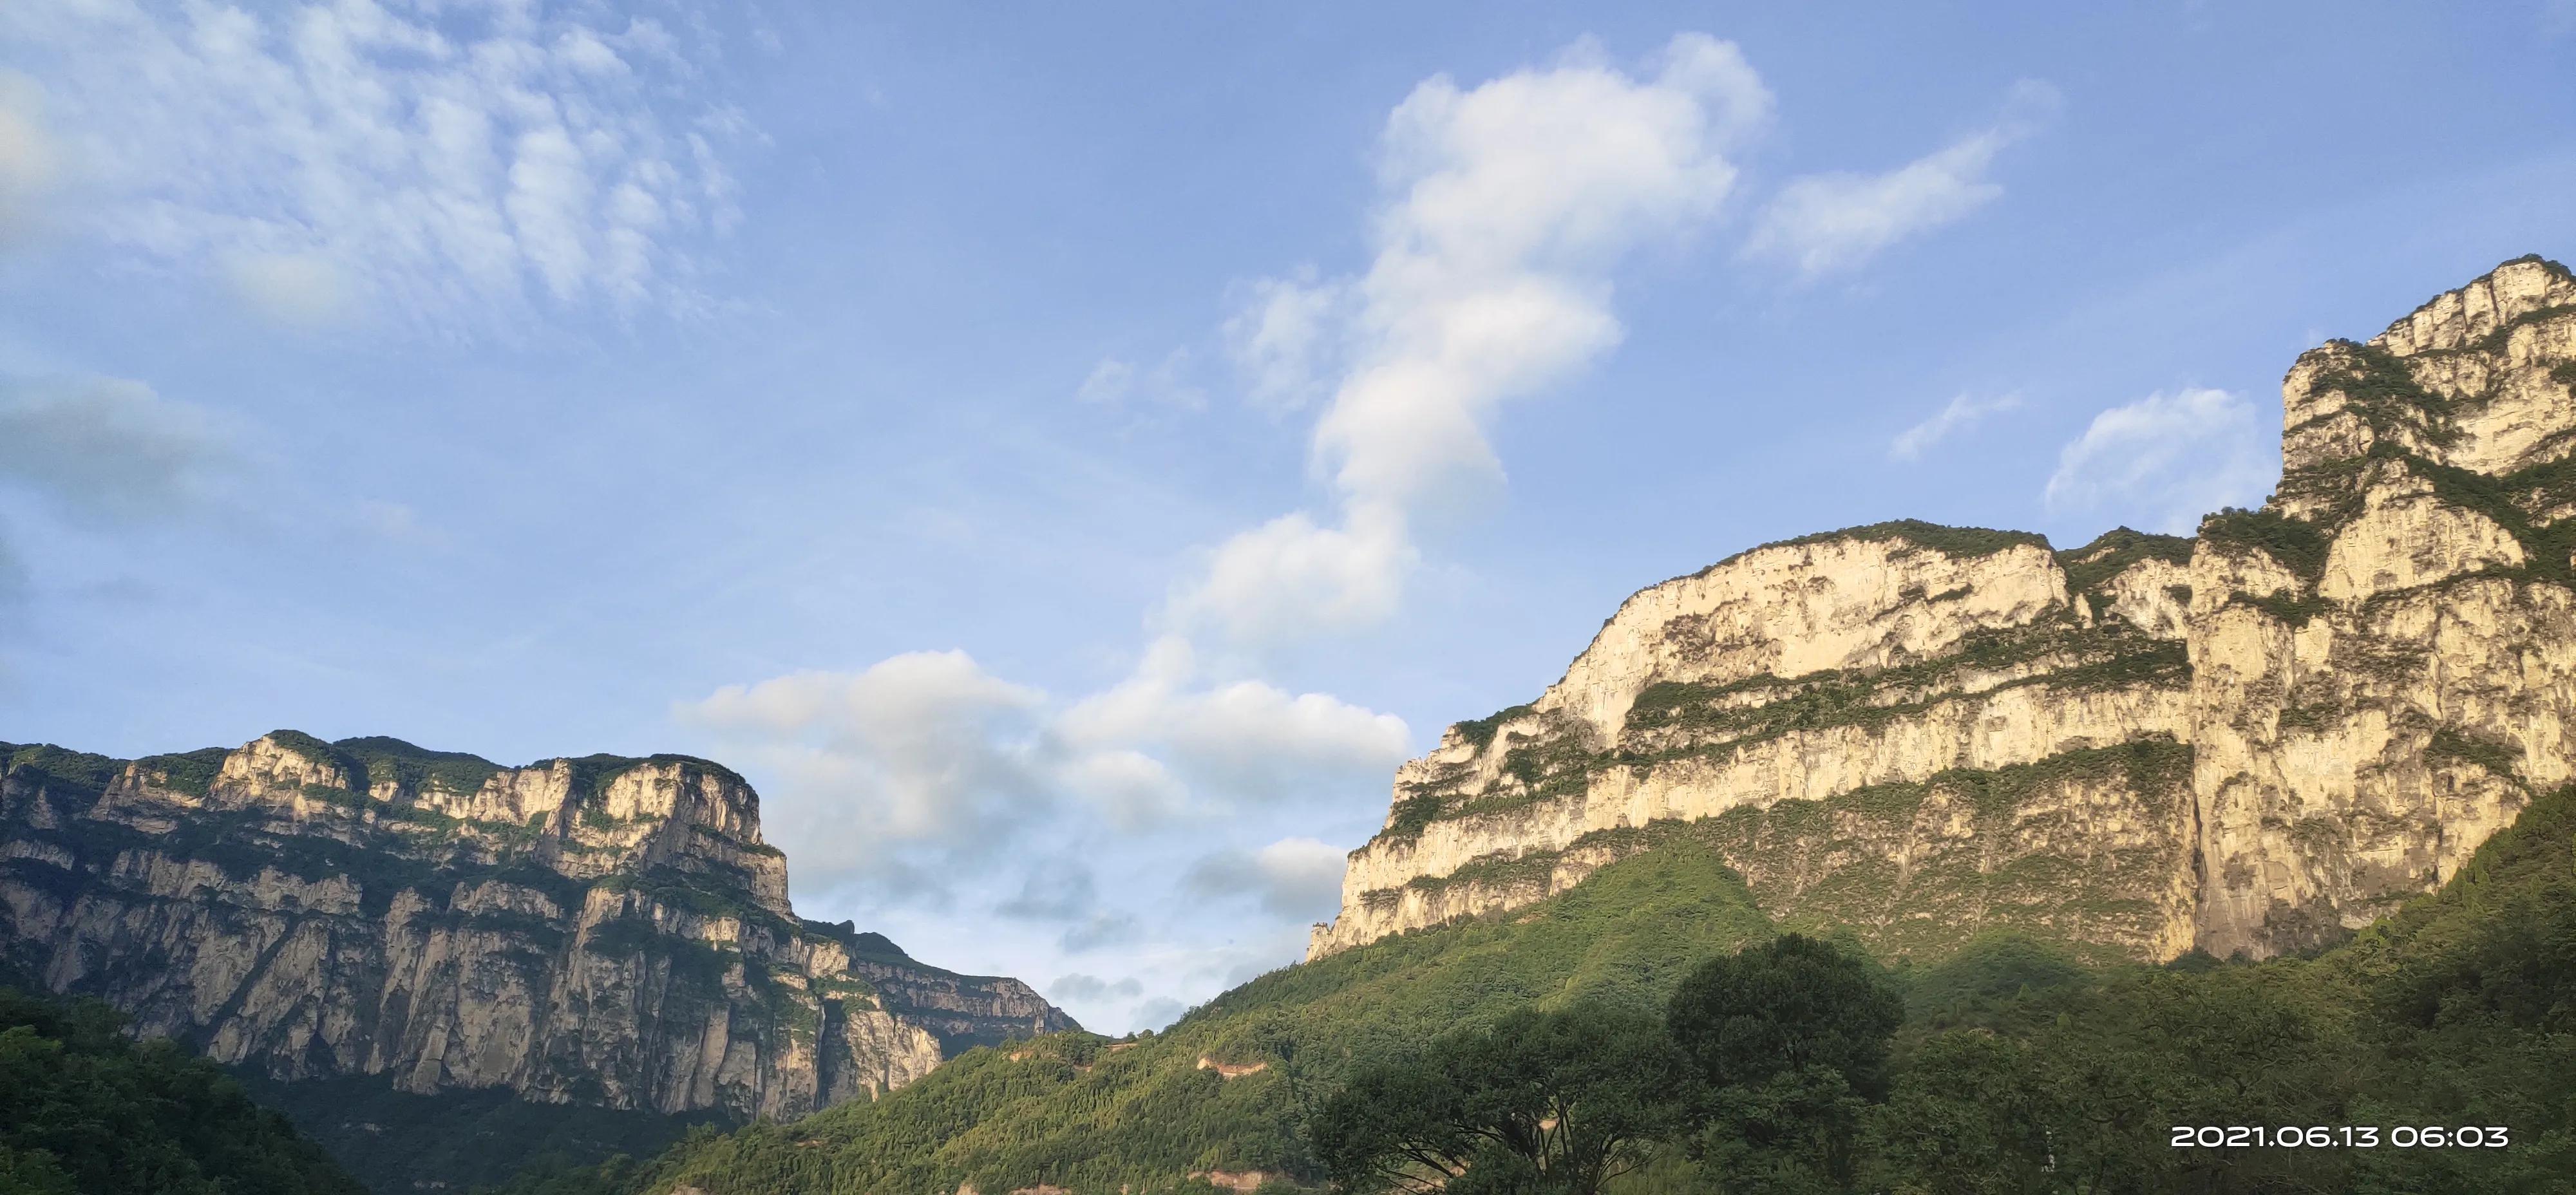
[(67, 224), (263, 317), (688, 306), (693, 242), (737, 219), (708, 136), (739, 118), (685, 100), (696, 72), (659, 23), (587, 13), (26, 0), (0, 5), (0, 41), (44, 49)]

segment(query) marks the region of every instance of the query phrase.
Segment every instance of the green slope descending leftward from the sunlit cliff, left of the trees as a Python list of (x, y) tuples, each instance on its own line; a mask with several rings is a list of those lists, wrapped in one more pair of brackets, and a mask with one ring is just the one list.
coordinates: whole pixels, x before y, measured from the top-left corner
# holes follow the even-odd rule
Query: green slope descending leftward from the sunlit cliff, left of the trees
[(958, 1185), (1149, 1192), (1316, 1182), (1293, 1133), (1298, 1097), (1355, 1056), (1528, 1004), (1654, 1007), (1695, 961), (1767, 932), (1718, 860), (1656, 852), (1507, 919), (1273, 971), (1164, 1033), (984, 1048), (876, 1102), (690, 1138), (641, 1172), (515, 1190), (951, 1195)]

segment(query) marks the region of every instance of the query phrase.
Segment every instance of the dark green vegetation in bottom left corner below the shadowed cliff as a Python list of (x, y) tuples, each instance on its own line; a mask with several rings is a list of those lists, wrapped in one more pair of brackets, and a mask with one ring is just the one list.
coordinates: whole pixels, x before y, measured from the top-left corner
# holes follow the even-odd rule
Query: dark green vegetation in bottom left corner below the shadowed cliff
[(0, 989), (0, 1192), (363, 1195), (209, 1061), (116, 1010)]

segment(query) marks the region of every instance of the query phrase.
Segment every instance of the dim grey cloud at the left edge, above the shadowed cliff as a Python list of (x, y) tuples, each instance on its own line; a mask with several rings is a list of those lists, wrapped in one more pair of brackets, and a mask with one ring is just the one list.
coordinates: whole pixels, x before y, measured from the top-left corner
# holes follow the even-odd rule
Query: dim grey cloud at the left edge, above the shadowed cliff
[(0, 379), (0, 482), (72, 515), (173, 515), (232, 461), (204, 407), (124, 379)]

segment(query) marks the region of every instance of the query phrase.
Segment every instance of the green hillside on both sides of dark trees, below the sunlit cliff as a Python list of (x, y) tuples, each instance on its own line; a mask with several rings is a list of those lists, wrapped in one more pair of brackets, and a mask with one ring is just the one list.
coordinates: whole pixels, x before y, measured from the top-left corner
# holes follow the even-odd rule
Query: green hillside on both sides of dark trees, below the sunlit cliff
[[(1170, 1033), (974, 1051), (873, 1105), (515, 1190), (1321, 1185), (1296, 1110), (1355, 1059), (1577, 997), (1651, 1010), (1692, 961), (1767, 932), (1705, 852), (1651, 850), (1499, 919), (1273, 971)], [(1986, 937), (1893, 979), (1909, 1020), (1860, 1190), (2576, 1192), (2576, 788), (2535, 801), (2442, 891), (2313, 958), (2087, 968)], [(1260, 1071), (1226, 1079), (1213, 1064)], [(2174, 1125), (2367, 1125), (2380, 1146), (2177, 1149)], [(2391, 1141), (2463, 1125), (2509, 1143)], [(1680, 1154), (1623, 1182), (1631, 1195), (1832, 1190), (1703, 1174)]]

